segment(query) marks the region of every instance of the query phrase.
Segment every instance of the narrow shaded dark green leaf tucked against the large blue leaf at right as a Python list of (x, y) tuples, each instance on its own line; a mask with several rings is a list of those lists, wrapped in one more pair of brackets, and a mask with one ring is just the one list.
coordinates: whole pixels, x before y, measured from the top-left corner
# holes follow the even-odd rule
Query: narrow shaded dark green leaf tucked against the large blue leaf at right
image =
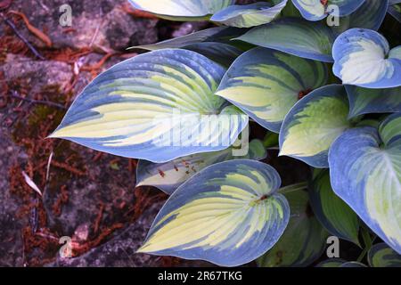
[(309, 188), (314, 213), (321, 224), (334, 236), (359, 245), (359, 220), (355, 212), (331, 189), (329, 170), (318, 174)]

